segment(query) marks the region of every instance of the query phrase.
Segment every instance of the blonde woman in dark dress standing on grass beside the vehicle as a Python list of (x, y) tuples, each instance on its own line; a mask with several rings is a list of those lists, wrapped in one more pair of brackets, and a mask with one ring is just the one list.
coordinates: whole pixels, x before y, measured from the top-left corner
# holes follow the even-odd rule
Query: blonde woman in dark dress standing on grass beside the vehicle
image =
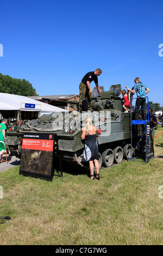
[(94, 164), (96, 168), (96, 179), (99, 180), (99, 163), (98, 163), (98, 145), (96, 141), (97, 129), (95, 125), (92, 125), (90, 117), (86, 118), (86, 126), (82, 130), (82, 140), (85, 139), (83, 162), (89, 162), (91, 180), (95, 180), (94, 176)]

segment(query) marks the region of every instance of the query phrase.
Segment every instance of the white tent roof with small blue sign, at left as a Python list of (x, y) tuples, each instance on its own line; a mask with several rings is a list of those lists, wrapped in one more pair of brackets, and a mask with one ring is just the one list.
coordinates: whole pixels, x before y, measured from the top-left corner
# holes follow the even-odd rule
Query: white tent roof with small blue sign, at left
[(48, 105), (47, 103), (33, 100), (29, 97), (9, 93), (0, 93), (1, 110), (39, 111), (41, 115), (66, 111), (65, 109)]

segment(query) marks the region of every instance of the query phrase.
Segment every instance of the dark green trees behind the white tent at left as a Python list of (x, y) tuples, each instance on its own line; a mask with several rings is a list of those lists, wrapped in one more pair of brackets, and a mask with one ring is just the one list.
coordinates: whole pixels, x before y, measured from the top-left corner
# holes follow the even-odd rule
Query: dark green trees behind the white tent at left
[(0, 73), (0, 93), (10, 93), (22, 96), (37, 96), (36, 89), (29, 81), (12, 78)]

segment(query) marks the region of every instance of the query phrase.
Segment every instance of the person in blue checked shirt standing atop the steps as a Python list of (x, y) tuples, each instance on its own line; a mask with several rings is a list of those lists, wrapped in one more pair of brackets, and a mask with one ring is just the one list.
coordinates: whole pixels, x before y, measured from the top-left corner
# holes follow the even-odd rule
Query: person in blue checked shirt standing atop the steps
[(136, 77), (135, 80), (135, 86), (133, 90), (130, 90), (128, 87), (127, 90), (128, 92), (134, 94), (136, 92), (137, 99), (135, 103), (135, 120), (139, 120), (139, 107), (141, 106), (142, 109), (142, 119), (146, 120), (146, 94), (149, 93), (149, 89), (146, 86), (146, 84), (140, 82), (140, 78)]

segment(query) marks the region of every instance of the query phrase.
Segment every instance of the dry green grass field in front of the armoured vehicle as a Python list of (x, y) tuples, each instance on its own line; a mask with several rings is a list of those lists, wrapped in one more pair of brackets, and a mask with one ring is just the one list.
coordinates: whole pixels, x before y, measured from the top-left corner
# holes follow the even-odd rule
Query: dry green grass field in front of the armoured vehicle
[[(158, 133), (161, 131), (161, 135)], [(1, 245), (161, 245), (162, 127), (155, 158), (122, 162), (100, 171), (101, 180), (64, 172), (53, 181), (0, 173)]]

